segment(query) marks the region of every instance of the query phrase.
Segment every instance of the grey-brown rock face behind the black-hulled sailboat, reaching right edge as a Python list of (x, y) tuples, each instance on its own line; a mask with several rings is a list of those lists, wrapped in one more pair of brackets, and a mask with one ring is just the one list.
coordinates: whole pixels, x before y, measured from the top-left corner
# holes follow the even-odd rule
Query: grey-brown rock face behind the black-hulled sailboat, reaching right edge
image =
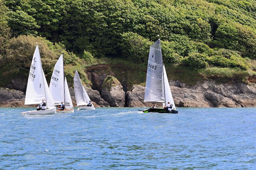
[[(170, 88), (177, 107), (256, 107), (256, 84), (197, 82), (188, 86), (170, 80)], [(126, 94), (128, 107), (151, 107), (143, 103), (145, 88), (133, 85)]]

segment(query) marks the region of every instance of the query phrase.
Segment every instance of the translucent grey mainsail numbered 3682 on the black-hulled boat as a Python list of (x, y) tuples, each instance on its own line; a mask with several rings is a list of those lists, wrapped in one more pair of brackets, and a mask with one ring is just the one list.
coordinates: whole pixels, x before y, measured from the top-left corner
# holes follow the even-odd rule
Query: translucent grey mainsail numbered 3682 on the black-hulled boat
[(144, 102), (165, 102), (160, 39), (150, 46)]

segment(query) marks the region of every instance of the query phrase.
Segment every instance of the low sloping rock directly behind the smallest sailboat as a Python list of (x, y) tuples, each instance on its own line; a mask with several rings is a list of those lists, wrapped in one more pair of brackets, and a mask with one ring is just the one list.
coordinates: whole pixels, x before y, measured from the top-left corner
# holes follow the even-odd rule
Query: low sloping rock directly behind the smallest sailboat
[[(86, 90), (88, 96), (92, 100), (94, 107), (109, 107), (108, 102), (106, 102), (104, 99), (102, 99), (100, 97), (99, 91), (90, 89), (88, 87), (85, 87), (84, 89)], [(70, 96), (71, 96), (73, 105), (74, 105), (74, 107), (76, 107), (76, 97), (75, 97), (74, 88), (70, 87), (69, 92), (70, 92)]]

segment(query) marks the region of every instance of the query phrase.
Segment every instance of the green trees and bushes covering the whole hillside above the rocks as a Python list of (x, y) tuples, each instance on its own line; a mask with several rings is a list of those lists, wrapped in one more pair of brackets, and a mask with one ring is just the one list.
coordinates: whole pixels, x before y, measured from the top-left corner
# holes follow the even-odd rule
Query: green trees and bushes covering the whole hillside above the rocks
[[(158, 38), (169, 78), (243, 80), (256, 74), (255, 11), (253, 0), (0, 0), (0, 86), (27, 77), (36, 42), (47, 76), (63, 52), (68, 81), (78, 70), (90, 85), (86, 67), (144, 66)], [(144, 82), (139, 70), (129, 83)]]

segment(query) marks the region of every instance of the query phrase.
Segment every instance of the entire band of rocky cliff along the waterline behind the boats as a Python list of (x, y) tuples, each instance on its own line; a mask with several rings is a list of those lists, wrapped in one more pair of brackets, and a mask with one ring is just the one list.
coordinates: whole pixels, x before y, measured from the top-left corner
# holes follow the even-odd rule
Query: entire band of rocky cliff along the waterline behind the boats
[[(105, 83), (104, 83), (105, 81)], [(126, 93), (122, 85), (112, 76), (102, 82), (101, 94), (85, 87), (95, 107), (151, 107), (144, 102), (145, 87), (133, 85)], [(169, 81), (174, 103), (177, 107), (256, 107), (256, 84), (219, 83), (198, 81), (189, 86), (180, 81)], [(75, 93), (69, 88), (74, 106)], [(24, 107), (24, 93), (19, 90), (0, 89), (0, 107)], [(160, 106), (161, 103), (158, 103)], [(28, 106), (26, 106), (28, 107)]]

